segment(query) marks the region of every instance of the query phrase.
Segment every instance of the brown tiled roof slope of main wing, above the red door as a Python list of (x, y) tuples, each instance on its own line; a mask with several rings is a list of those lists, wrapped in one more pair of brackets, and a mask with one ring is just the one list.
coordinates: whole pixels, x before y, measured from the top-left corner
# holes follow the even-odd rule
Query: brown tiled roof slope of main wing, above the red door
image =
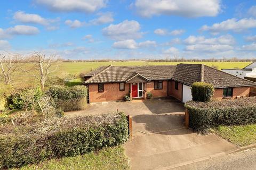
[(175, 68), (176, 65), (108, 66), (85, 83), (124, 82), (134, 72), (149, 80), (169, 80)]

